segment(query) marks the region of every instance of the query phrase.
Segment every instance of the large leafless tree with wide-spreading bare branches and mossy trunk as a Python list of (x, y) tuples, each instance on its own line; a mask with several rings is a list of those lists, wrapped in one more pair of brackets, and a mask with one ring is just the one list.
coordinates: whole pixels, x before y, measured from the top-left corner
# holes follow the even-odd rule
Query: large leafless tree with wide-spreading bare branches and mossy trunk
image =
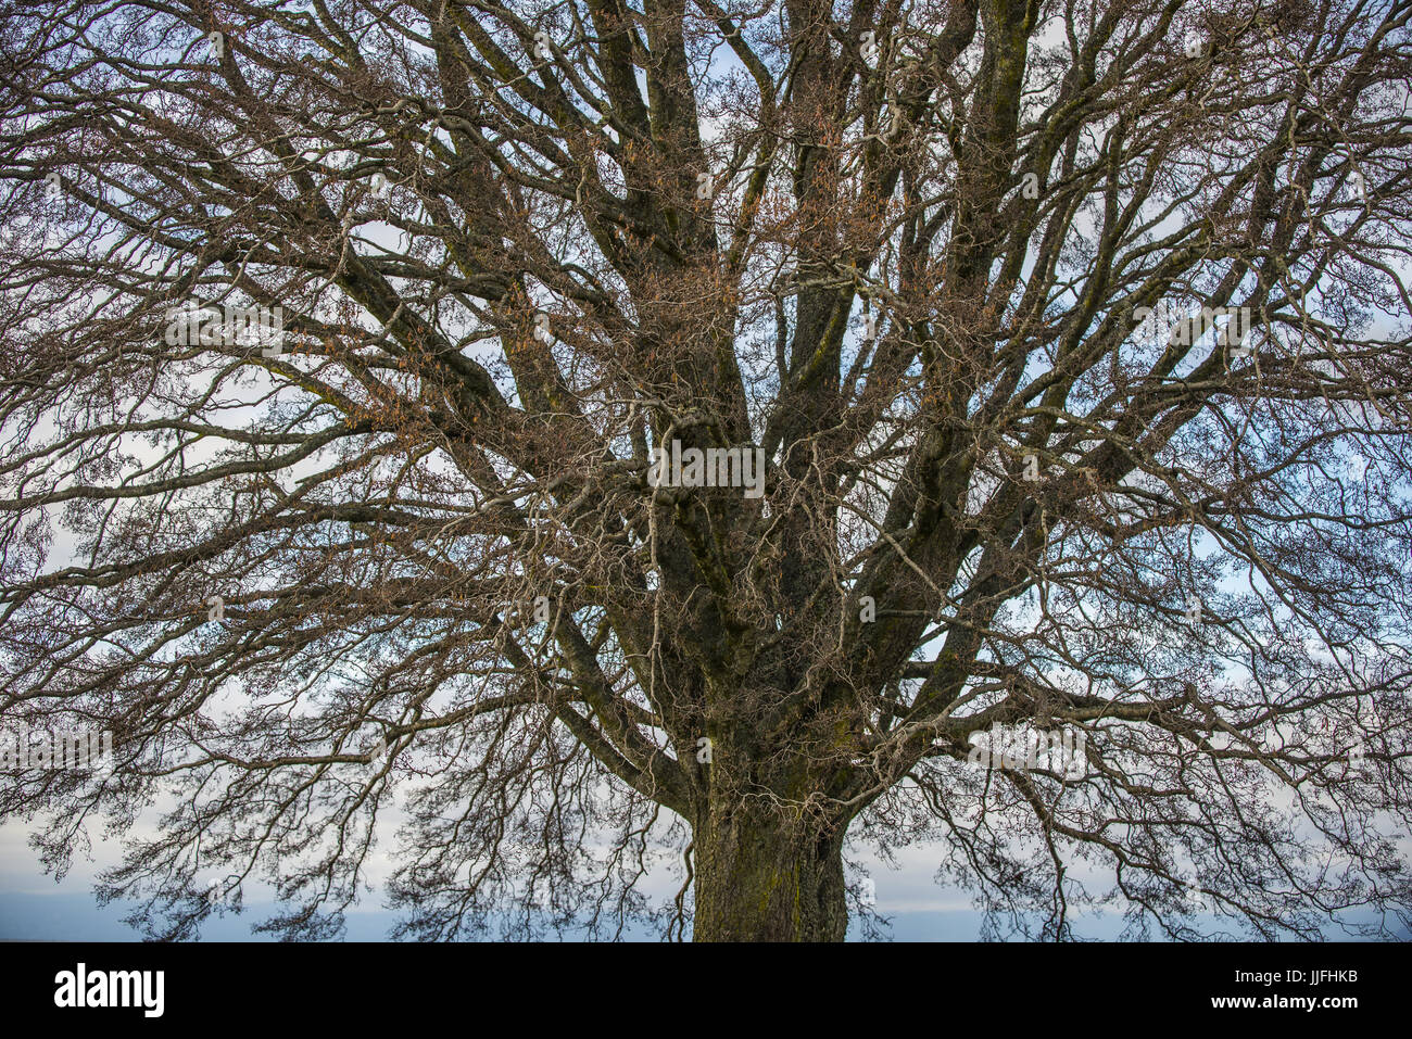
[(1408, 4), (0, 10), (0, 710), (116, 743), (0, 812), (150, 933), (380, 820), (422, 939), (1408, 920)]

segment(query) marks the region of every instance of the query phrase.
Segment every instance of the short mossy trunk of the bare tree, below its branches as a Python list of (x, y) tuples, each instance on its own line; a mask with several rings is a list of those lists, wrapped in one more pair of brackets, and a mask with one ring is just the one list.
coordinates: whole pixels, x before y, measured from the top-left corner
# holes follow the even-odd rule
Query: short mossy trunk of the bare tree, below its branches
[(842, 942), (843, 834), (782, 815), (713, 810), (695, 833), (695, 942)]

